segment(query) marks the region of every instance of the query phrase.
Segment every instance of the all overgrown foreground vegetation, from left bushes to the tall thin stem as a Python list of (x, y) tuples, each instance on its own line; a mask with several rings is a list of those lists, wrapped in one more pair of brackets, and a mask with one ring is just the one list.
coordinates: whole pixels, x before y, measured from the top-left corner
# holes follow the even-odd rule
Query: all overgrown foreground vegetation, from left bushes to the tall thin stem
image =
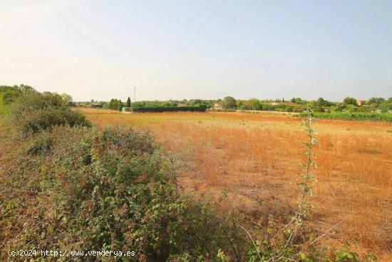
[(297, 208), (252, 225), (225, 191), (224, 212), (182, 191), (180, 163), (150, 133), (91, 126), (57, 94), (21, 91), (10, 106), (0, 116), (2, 261), (19, 259), (4, 256), (15, 248), (135, 251), (134, 261), (358, 261), (320, 246), (323, 233), (308, 226), (311, 116)]

